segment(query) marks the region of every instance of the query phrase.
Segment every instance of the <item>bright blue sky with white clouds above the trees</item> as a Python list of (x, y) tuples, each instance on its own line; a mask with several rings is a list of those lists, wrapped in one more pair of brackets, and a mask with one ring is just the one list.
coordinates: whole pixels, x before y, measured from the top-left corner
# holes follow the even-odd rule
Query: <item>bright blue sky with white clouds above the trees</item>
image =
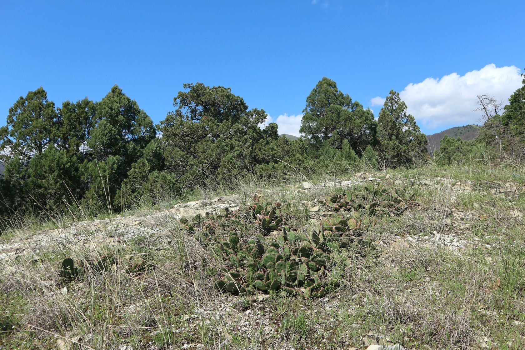
[(39, 86), (59, 106), (100, 100), (116, 83), (159, 122), (182, 84), (199, 81), (297, 133), (325, 76), (376, 115), (402, 91), (434, 133), (478, 120), (476, 94), (505, 100), (521, 86), (524, 12), (522, 0), (2, 0), (0, 125)]

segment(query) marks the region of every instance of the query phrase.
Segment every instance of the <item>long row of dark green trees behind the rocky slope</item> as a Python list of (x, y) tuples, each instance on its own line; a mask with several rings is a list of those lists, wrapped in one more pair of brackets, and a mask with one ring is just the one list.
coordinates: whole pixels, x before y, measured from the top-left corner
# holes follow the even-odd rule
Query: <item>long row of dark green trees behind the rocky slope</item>
[[(509, 125), (522, 125), (524, 90), (505, 109)], [(86, 97), (59, 108), (43, 88), (29, 91), (0, 128), (0, 217), (71, 203), (93, 213), (124, 210), (247, 174), (282, 179), (290, 172), (337, 175), (359, 164), (402, 166), (421, 158), (426, 144), (398, 93), (390, 92), (375, 120), (328, 78), (307, 97), (303, 136), (293, 141), (230, 88), (183, 84), (173, 106), (155, 126), (117, 85), (100, 101)], [(472, 149), (459, 140), (442, 143), (446, 163)]]

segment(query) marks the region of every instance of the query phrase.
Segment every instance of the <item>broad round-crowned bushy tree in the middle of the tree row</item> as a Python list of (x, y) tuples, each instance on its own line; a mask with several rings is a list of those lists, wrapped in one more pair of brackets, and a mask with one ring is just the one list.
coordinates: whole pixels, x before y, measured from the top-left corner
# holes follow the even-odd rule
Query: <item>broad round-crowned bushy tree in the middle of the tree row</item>
[(266, 119), (263, 110), (248, 110), (229, 88), (202, 83), (184, 88), (188, 91), (174, 98), (177, 110), (160, 124), (166, 167), (182, 186), (207, 179), (227, 182), (259, 164), (275, 162), (277, 126), (259, 128)]

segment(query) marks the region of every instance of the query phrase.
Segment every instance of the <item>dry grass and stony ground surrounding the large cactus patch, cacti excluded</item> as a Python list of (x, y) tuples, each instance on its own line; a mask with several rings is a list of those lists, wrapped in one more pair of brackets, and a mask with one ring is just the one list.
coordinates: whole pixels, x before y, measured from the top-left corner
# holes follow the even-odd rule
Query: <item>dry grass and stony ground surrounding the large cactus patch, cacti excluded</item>
[[(41, 234), (18, 230), (10, 242), (19, 241), (19, 249), (29, 253), (0, 260), (0, 348), (364, 348), (363, 336), (376, 332), (405, 349), (522, 349), (525, 228), (513, 210), (523, 213), (525, 200), (486, 192), (487, 182), (516, 179), (520, 168), (475, 174), (476, 169), (431, 165), (388, 172), (415, 184), (435, 176), (468, 179), (476, 188), (456, 193), (409, 186), (419, 205), (370, 227), (366, 235), (378, 250), (351, 259), (340, 287), (322, 299), (220, 294), (202, 272), (202, 259), (214, 257), (169, 215), (141, 224), (158, 229), (154, 234), (127, 237), (117, 245), (100, 241), (86, 225), (31, 253), (31, 239)], [(278, 180), (244, 179), (228, 188), (202, 188), (193, 199), (235, 193), (245, 205), (254, 193), (263, 193), (295, 203), (287, 219), (301, 226), (310, 222), (302, 201), (334, 192), (316, 187), (296, 193), (283, 186)], [(246, 235), (252, 227), (246, 223)], [(122, 233), (102, 231), (108, 239)], [(87, 237), (82, 245), (77, 236)], [(465, 244), (443, 245), (443, 237)], [(122, 263), (103, 272), (90, 267), (87, 261), (103, 253)], [(127, 273), (123, 261), (130, 254), (155, 268)], [(57, 264), (65, 257), (85, 262), (85, 274), (61, 279)]]

